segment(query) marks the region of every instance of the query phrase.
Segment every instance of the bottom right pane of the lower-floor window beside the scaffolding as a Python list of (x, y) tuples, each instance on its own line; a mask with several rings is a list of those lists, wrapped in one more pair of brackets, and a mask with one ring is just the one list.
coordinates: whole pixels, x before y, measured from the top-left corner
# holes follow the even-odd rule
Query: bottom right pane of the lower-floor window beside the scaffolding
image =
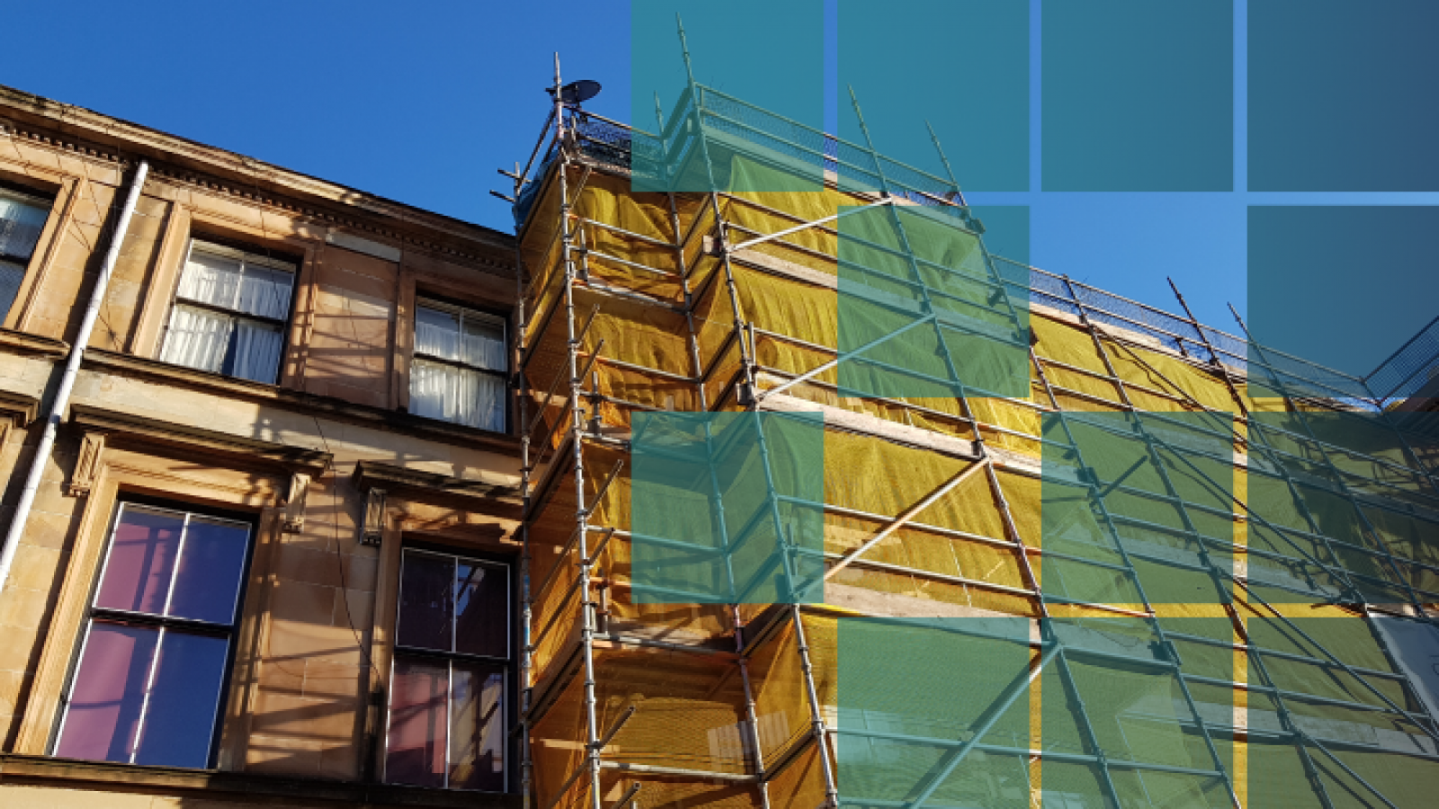
[(452, 665), (449, 786), (504, 792), (504, 669)]

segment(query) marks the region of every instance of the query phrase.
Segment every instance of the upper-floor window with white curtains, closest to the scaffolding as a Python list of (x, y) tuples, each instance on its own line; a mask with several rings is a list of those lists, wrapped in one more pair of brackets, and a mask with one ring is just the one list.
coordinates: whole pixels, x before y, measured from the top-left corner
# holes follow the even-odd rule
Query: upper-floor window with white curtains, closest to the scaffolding
[(410, 412), (505, 429), (505, 321), (435, 301), (414, 308)]

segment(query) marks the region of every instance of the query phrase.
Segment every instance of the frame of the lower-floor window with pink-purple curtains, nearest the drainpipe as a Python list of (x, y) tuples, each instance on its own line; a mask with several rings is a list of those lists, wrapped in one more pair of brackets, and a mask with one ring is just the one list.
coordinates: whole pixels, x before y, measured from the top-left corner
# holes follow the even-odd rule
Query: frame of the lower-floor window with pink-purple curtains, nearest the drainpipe
[[(99, 597), (101, 587), (105, 583), (105, 571), (109, 567), (111, 554), (112, 554), (114, 547), (115, 547), (115, 528), (119, 525), (119, 520), (121, 520), (121, 517), (124, 517), (125, 508), (130, 507), (130, 505), (135, 505), (135, 507), (145, 508), (145, 510), (150, 510), (150, 511), (168, 511), (171, 514), (184, 515), (184, 528), (186, 528), (186, 531), (190, 527), (190, 517), (201, 517), (204, 520), (212, 520), (212, 521), (216, 521), (216, 523), (230, 523), (230, 524), (235, 524), (235, 525), (245, 527), (245, 551), (242, 554), (240, 570), (237, 571), (236, 589), (235, 589), (235, 603), (230, 607), (230, 623), (229, 625), (219, 625), (219, 623), (212, 623), (212, 622), (207, 622), (207, 620), (199, 620), (199, 619), (190, 619), (190, 618), (173, 618), (173, 616), (164, 616), (164, 615), (151, 615), (151, 613), (144, 613), (144, 612), (132, 612), (132, 610), (122, 610), (122, 609), (115, 609), (115, 607), (101, 607), (101, 606), (96, 606), (95, 600)], [(240, 629), (242, 629), (240, 625), (243, 623), (243, 619), (245, 619), (245, 615), (243, 615), (245, 613), (245, 600), (246, 600), (246, 596), (248, 596), (248, 587), (246, 587), (246, 584), (249, 583), (250, 566), (252, 566), (252, 563), (255, 560), (255, 551), (256, 551), (256, 547), (258, 547), (259, 525), (256, 524), (255, 518), (252, 515), (249, 515), (249, 514), (227, 511), (227, 510), (223, 510), (223, 508), (201, 508), (201, 510), (196, 511), (196, 510), (186, 508), (186, 505), (189, 505), (189, 504), (161, 501), (161, 500), (157, 500), (157, 498), (148, 498), (148, 497), (142, 497), (142, 495), (140, 495), (140, 497), (119, 497), (119, 498), (115, 500), (114, 511), (112, 511), (111, 518), (109, 518), (109, 521), (106, 523), (106, 527), (105, 527), (105, 534), (104, 534), (104, 543), (105, 544), (101, 548), (99, 564), (95, 569), (95, 576), (91, 579), (89, 593), (88, 593), (88, 596), (85, 599), (85, 607), (81, 612), (79, 642), (75, 643), (75, 651), (71, 655), (71, 662), (69, 662), (69, 666), (68, 666), (68, 674), (65, 677), (63, 687), (60, 688), (60, 694), (59, 694), (60, 701), (59, 701), (59, 705), (58, 705), (59, 710), (55, 713), (55, 726), (53, 726), (55, 730), (50, 733), (49, 743), (46, 744), (46, 754), (55, 756), (56, 750), (59, 749), (60, 738), (63, 738), (65, 724), (69, 720), (71, 705), (73, 702), (75, 681), (79, 677), (81, 664), (85, 661), (85, 651), (89, 648), (89, 639), (91, 639), (91, 633), (94, 631), (95, 622), (101, 620), (101, 622), (118, 623), (118, 625), (125, 625), (125, 626), (155, 628), (155, 629), (160, 631), (160, 638), (161, 639), (164, 638), (164, 632), (168, 631), (168, 629), (177, 629), (180, 632), (187, 632), (187, 633), (191, 633), (191, 635), (201, 635), (201, 636), (206, 636), (206, 638), (223, 638), (224, 639), (224, 642), (226, 642), (224, 665), (222, 668), (220, 681), (219, 681), (219, 684), (216, 687), (216, 705), (214, 705), (214, 717), (212, 717), (212, 720), (210, 720), (209, 746), (206, 749), (204, 766), (199, 767), (199, 769), (214, 769), (216, 767), (217, 759), (220, 756), (222, 737), (224, 736), (224, 721), (223, 720), (224, 720), (226, 707), (229, 704), (230, 688), (233, 685), (232, 684), (232, 677), (235, 674), (233, 669), (235, 669), (236, 649), (237, 649), (237, 646), (240, 643)], [(176, 559), (171, 563), (171, 589), (174, 586), (174, 570), (180, 564), (180, 559), (183, 557), (183, 553), (184, 553), (183, 551), (183, 547), (184, 547), (183, 541), (184, 541), (184, 533), (181, 534), (181, 546), (180, 546), (181, 550), (178, 550), (176, 553)], [(168, 596), (167, 596), (167, 600), (168, 600)], [(157, 641), (157, 651), (160, 648), (161, 648), (160, 646), (160, 641)], [(155, 658), (150, 662), (150, 666), (147, 668), (147, 675), (145, 675), (147, 681), (153, 681), (154, 679), (155, 665), (157, 665), (158, 659), (160, 659), (160, 655), (157, 654)], [(148, 691), (148, 685), (147, 685), (147, 691)], [(145, 700), (148, 702), (148, 694), (145, 695)], [(130, 741), (130, 744), (131, 744), (130, 759), (131, 760), (130, 761), (114, 761), (114, 763), (117, 763), (117, 764), (125, 764), (125, 766), (137, 766), (134, 763), (135, 754), (138, 753), (138, 746), (135, 746), (135, 740), (140, 738), (140, 734), (144, 731), (144, 726), (145, 726), (145, 714), (142, 713), (141, 718), (140, 718), (140, 721), (138, 721), (138, 724), (135, 727), (135, 737), (131, 738), (131, 741)], [(193, 769), (193, 767), (183, 767), (180, 764), (161, 764), (161, 766), (174, 766), (174, 767), (180, 767), (180, 769)]]

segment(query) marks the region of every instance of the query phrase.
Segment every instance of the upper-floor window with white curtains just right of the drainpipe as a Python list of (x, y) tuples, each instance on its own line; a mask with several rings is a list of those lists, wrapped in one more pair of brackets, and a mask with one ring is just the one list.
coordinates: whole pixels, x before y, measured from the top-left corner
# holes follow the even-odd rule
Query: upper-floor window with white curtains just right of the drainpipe
[(291, 263), (191, 242), (160, 358), (273, 384), (294, 286)]

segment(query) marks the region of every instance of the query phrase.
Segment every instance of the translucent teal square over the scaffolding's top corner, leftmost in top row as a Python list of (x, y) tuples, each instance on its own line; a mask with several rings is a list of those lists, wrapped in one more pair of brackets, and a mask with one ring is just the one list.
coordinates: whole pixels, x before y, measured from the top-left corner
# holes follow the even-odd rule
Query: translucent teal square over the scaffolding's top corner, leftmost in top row
[(630, 122), (635, 191), (823, 189), (823, 3), (632, 0)]

